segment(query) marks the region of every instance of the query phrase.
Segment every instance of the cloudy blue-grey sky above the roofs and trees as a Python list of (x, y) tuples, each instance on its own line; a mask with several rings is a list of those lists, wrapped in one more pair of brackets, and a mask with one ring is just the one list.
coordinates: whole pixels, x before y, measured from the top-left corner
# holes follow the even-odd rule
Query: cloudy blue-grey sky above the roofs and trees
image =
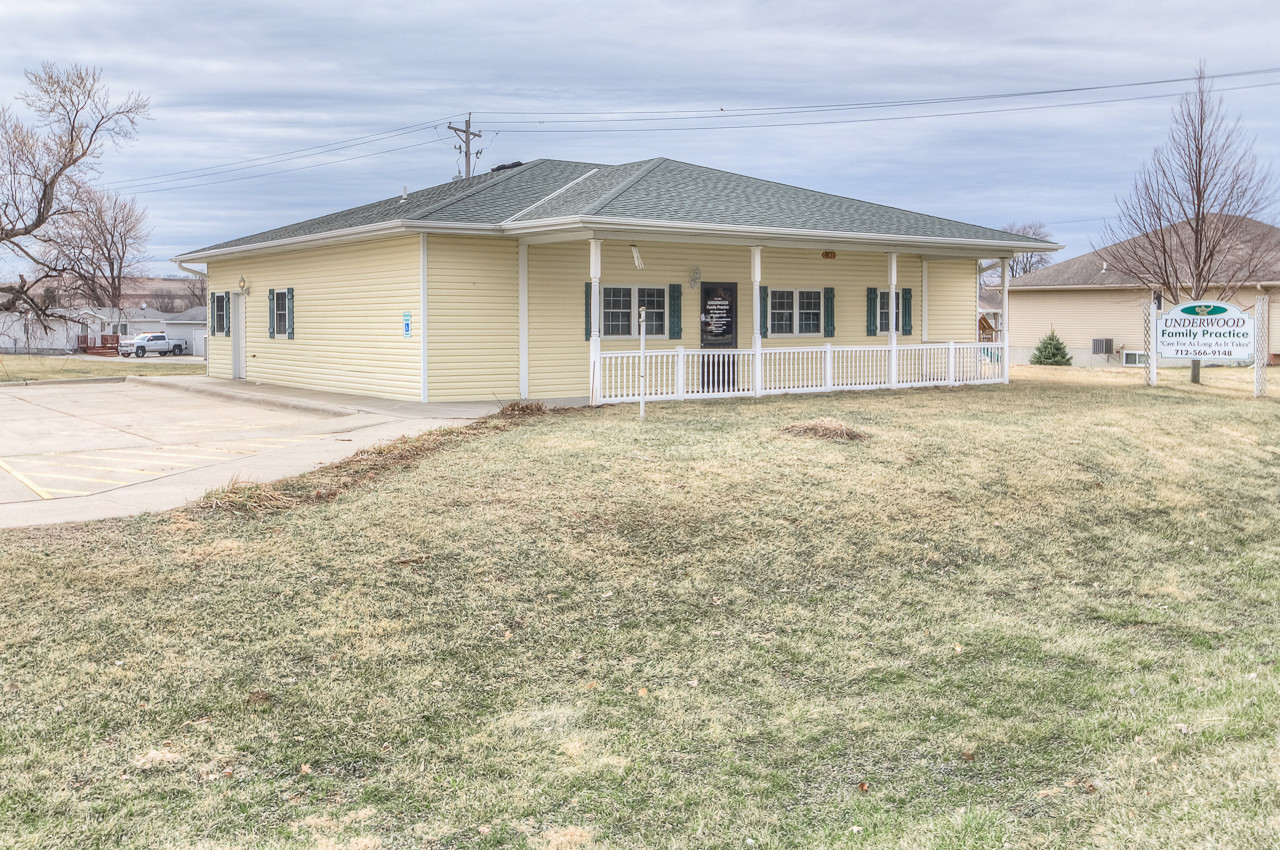
[[(666, 156), (988, 227), (1043, 221), (1061, 260), (1101, 245), (1192, 83), (987, 96), (1280, 67), (1274, 0), (183, 5), (0, 0), (0, 102), (17, 108), (45, 61), (151, 99), (100, 182), (147, 207), (156, 275), (449, 180), (447, 125), (467, 113), (480, 170)], [(1275, 172), (1280, 70), (1215, 87)], [(759, 111), (850, 104), (878, 105)]]

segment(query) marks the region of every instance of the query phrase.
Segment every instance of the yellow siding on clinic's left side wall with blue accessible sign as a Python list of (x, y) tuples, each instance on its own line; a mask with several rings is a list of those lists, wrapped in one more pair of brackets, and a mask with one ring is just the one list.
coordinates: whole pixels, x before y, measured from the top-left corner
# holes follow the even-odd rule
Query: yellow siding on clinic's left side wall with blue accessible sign
[[(419, 237), (209, 264), (211, 292), (246, 296), (244, 378), (381, 398), (421, 397)], [(269, 291), (293, 288), (294, 338), (269, 337)], [(412, 314), (406, 339), (402, 315)], [(210, 337), (210, 374), (230, 378), (232, 337)]]

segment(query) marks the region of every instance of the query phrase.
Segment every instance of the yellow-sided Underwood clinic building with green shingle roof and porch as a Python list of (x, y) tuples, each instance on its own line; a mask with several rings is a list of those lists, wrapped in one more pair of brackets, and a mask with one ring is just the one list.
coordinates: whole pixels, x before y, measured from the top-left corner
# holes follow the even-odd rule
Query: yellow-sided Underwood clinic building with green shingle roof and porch
[[(1006, 379), (978, 261), (1041, 239), (667, 159), (499, 166), (175, 257), (210, 374), (421, 401)], [(644, 320), (641, 324), (641, 310)]]

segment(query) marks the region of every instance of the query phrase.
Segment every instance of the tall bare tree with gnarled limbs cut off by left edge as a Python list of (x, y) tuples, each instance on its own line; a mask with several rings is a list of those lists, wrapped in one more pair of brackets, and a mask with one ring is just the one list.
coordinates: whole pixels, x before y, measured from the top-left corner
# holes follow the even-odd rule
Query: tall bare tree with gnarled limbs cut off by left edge
[(60, 70), (45, 63), (27, 72), (27, 83), (18, 101), (33, 120), (0, 108), (0, 250), (28, 260), (37, 271), (0, 285), (0, 310), (24, 310), (44, 320), (37, 287), (63, 271), (46, 262), (47, 230), (84, 211), (96, 160), (109, 142), (134, 137), (150, 104), (136, 93), (113, 101), (96, 68)]

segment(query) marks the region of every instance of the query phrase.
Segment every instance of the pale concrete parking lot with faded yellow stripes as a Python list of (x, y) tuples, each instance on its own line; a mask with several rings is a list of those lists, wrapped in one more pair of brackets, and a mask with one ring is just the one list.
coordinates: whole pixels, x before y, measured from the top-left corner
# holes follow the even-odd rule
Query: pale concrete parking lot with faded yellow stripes
[[(173, 383), (155, 383), (164, 380)], [(296, 475), (402, 434), (470, 421), (463, 415), (472, 412), (360, 410), (340, 405), (349, 397), (297, 393), (287, 407), (270, 390), (220, 384), (232, 381), (0, 388), (0, 527), (177, 507), (233, 481)], [(209, 387), (219, 392), (182, 392)]]

